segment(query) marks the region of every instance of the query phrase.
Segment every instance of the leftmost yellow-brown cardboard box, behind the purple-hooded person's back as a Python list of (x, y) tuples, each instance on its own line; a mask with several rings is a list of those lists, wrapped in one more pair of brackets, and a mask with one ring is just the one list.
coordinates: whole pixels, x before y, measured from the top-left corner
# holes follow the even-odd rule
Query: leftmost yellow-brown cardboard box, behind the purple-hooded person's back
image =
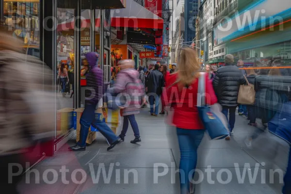
[(64, 108), (57, 111), (57, 131), (67, 131), (74, 127), (72, 108)]

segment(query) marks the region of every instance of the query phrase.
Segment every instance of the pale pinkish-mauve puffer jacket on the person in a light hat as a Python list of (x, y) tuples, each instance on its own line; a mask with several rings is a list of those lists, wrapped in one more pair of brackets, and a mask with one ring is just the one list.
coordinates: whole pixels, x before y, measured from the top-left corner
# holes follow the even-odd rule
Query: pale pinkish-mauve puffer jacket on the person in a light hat
[(127, 101), (127, 106), (123, 109), (123, 116), (140, 113), (142, 98), (145, 96), (145, 87), (139, 80), (137, 70), (132, 68), (121, 70), (117, 74), (113, 92), (116, 94), (125, 93), (130, 97), (130, 101)]

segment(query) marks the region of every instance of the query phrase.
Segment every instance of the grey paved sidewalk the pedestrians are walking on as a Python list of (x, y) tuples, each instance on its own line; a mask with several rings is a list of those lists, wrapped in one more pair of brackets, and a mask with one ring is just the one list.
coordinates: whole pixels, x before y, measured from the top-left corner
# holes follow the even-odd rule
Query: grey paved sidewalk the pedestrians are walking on
[[(130, 140), (134, 138), (130, 127), (125, 142), (110, 152), (106, 150), (108, 145), (103, 138), (97, 138), (86, 151), (69, 152), (67, 147), (75, 144), (75, 140), (71, 140), (52, 158), (34, 168), (39, 171), (40, 183), (35, 184), (35, 173), (31, 172), (26, 177), (30, 184), (25, 184), (24, 178), (19, 187), (20, 191), (25, 191), (23, 194), (179, 194), (178, 173), (175, 174), (179, 163), (175, 128), (167, 127), (161, 115), (150, 116), (148, 109), (143, 109), (136, 117), (142, 139), (139, 145), (130, 144)], [(199, 172), (195, 176), (196, 180), (199, 177), (202, 182), (196, 186), (195, 194), (280, 193), (282, 184), (277, 180), (275, 184), (261, 183), (261, 172), (265, 168), (259, 162), (272, 161), (260, 151), (248, 150), (244, 146), (245, 137), (253, 130), (243, 117), (237, 116), (234, 137), (230, 141), (207, 141), (204, 138), (199, 148), (197, 164), (201, 174)], [(236, 168), (234, 163), (238, 163), (239, 167)], [(246, 171), (252, 173), (258, 165), (255, 184), (250, 181), (248, 172), (244, 183), (239, 183), (236, 174), (242, 174), (245, 163), (250, 164)], [(63, 165), (63, 170), (67, 169), (65, 175), (60, 172)], [(210, 176), (207, 176), (205, 169), (209, 165), (214, 170), (211, 174), (214, 184), (207, 180)], [(154, 175), (161, 175), (165, 170), (168, 170), (167, 174), (164, 173), (158, 179), (157, 176), (154, 178)], [(107, 176), (108, 173), (111, 176)], [(231, 180), (229, 174), (232, 175)], [(228, 184), (221, 183), (227, 183), (228, 178)], [(49, 182), (53, 184), (48, 184)], [(266, 182), (268, 183), (267, 180)]]

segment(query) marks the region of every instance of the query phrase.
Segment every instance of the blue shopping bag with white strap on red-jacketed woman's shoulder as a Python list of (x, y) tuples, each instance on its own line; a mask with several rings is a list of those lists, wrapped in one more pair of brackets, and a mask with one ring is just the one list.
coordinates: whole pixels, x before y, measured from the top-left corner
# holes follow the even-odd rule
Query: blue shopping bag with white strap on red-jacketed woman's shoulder
[(224, 139), (229, 135), (229, 131), (221, 120), (223, 117), (218, 116), (219, 113), (213, 113), (210, 106), (206, 104), (205, 82), (205, 73), (200, 73), (197, 96), (198, 114), (211, 139)]

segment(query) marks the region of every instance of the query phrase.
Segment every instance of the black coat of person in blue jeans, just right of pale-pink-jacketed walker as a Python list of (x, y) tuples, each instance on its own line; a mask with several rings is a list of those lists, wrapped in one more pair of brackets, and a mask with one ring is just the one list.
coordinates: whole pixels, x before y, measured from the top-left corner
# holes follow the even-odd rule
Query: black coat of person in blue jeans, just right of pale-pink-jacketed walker
[(147, 93), (155, 93), (160, 96), (162, 94), (163, 83), (165, 82), (162, 72), (152, 70), (146, 80)]

